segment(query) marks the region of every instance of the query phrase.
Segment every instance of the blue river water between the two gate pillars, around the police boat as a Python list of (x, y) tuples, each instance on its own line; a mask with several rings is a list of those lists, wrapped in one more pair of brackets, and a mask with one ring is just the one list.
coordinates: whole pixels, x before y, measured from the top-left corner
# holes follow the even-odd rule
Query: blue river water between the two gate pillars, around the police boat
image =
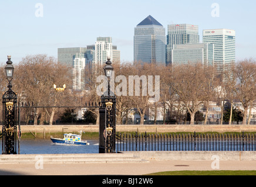
[[(99, 153), (99, 140), (87, 140), (89, 145), (56, 144), (51, 140), (21, 140), (20, 154)], [(18, 141), (17, 141), (18, 154)]]

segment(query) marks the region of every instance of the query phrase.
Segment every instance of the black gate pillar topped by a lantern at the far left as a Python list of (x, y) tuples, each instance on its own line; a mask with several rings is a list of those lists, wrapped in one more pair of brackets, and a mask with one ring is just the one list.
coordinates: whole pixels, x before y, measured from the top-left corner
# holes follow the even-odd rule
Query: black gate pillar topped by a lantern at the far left
[(3, 103), (3, 124), (2, 124), (2, 154), (16, 154), (16, 134), (17, 134), (17, 96), (12, 91), (12, 78), (14, 66), (11, 56), (5, 66), (6, 78), (8, 79), (8, 91), (2, 96)]

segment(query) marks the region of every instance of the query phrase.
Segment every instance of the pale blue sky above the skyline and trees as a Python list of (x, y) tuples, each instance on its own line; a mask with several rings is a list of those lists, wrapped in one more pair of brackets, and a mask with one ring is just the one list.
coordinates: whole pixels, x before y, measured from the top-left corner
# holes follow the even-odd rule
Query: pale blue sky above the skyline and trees
[[(218, 6), (216, 6), (218, 5)], [(58, 58), (58, 48), (86, 47), (112, 37), (122, 62), (133, 61), (134, 27), (151, 15), (170, 24), (234, 29), (236, 60), (256, 58), (256, 1), (231, 0), (11, 0), (0, 1), (0, 63), (34, 54)]]

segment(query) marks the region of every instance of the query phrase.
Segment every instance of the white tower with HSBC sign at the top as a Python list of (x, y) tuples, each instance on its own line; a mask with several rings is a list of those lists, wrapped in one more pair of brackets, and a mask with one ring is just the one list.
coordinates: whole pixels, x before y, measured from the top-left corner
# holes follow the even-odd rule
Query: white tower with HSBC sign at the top
[(235, 63), (235, 30), (203, 30), (203, 43), (214, 44), (214, 67), (218, 74), (231, 69)]

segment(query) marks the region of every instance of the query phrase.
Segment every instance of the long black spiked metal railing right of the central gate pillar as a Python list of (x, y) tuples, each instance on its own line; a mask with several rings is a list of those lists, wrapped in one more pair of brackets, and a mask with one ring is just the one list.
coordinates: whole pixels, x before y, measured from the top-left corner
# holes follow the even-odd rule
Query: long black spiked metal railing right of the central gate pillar
[(117, 151), (256, 151), (256, 134), (116, 133)]

